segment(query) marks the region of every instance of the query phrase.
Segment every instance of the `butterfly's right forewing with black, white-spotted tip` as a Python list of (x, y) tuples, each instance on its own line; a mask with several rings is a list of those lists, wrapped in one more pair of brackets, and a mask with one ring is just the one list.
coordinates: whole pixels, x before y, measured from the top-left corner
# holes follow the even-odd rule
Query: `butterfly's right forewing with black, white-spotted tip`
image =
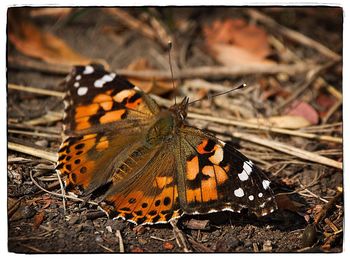
[(193, 127), (183, 127), (179, 139), (179, 200), (185, 213), (248, 208), (257, 216), (277, 206), (270, 181), (230, 144)]

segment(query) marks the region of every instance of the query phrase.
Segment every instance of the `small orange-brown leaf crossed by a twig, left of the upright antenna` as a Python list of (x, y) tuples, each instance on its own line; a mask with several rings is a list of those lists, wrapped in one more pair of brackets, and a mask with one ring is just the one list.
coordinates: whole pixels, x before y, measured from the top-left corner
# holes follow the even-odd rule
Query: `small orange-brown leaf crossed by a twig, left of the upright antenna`
[[(153, 67), (150, 66), (149, 62), (145, 58), (139, 58), (136, 61), (129, 64), (127, 67), (128, 70), (133, 71), (142, 71), (142, 70), (152, 70)], [(128, 77), (128, 80), (141, 88), (144, 92), (152, 92), (157, 95), (164, 94), (168, 91), (173, 90), (172, 81), (165, 80), (155, 80), (154, 78), (137, 78), (137, 77)], [(174, 82), (174, 85), (177, 86), (177, 82)]]

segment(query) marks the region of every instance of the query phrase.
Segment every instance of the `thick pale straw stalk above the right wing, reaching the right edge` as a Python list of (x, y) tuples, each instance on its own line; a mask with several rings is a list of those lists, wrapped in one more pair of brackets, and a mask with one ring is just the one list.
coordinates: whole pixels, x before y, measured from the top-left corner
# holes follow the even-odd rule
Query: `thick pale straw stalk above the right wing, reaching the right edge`
[(286, 154), (299, 157), (301, 159), (305, 159), (305, 160), (316, 162), (319, 164), (331, 166), (331, 167), (338, 168), (338, 169), (343, 169), (342, 162), (338, 162), (338, 161), (320, 156), (316, 153), (312, 153), (312, 152), (309, 152), (306, 150), (298, 149), (298, 148), (295, 148), (293, 146), (290, 146), (290, 145), (287, 145), (287, 144), (284, 144), (281, 142), (261, 139), (259, 137), (256, 137), (256, 136), (253, 136), (250, 134), (239, 133), (239, 132), (232, 133), (232, 136), (236, 137), (236, 138), (240, 138), (242, 140), (254, 142), (254, 143), (263, 145), (265, 147), (269, 147), (269, 148), (272, 148), (274, 150), (278, 150), (278, 151), (284, 152)]

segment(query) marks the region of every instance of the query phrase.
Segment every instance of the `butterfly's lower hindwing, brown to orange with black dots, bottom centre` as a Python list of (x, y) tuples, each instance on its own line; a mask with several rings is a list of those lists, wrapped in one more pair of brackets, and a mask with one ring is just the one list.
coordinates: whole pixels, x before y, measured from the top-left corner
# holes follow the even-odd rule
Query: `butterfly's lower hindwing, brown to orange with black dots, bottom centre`
[[(111, 217), (135, 224), (166, 223), (179, 217), (176, 162), (173, 144), (148, 148), (133, 157), (127, 178), (113, 183), (106, 193), (104, 209)], [(170, 148), (169, 148), (170, 147)]]

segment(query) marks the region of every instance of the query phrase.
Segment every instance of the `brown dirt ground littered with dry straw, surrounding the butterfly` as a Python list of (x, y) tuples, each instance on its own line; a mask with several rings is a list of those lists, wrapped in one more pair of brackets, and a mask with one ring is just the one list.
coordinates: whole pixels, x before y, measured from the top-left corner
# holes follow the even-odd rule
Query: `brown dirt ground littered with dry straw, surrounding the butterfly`
[[(41, 32), (50, 32), (77, 50), (82, 61), (82, 57), (100, 59), (107, 62), (112, 71), (132, 71), (135, 66), (129, 65), (142, 57), (150, 65), (143, 64), (141, 69), (169, 72), (164, 44), (166, 35), (147, 37), (145, 28), (133, 28), (121, 21), (118, 15), (97, 8), (73, 9), (67, 13), (62, 11), (59, 15), (35, 12), (37, 10), (40, 9), (13, 10), (15, 16), (9, 13), (9, 20), (13, 17), (23, 21), (29, 19)], [(265, 16), (260, 19), (254, 15), (256, 13), (247, 12), (249, 10)], [(207, 38), (210, 34), (203, 31), (210, 32), (213, 23), (239, 18), (251, 25), (258, 25), (267, 32), (268, 43), (274, 43), (264, 59), (268, 58), (277, 65), (308, 63), (308, 69), (297, 68), (295, 72), (286, 69), (286, 72), (282, 72), (281, 66), (278, 72), (266, 72), (266, 68), (270, 67), (260, 57), (258, 64), (261, 66), (259, 68), (263, 68), (261, 73), (258, 70), (256, 73), (242, 71), (233, 76), (220, 72), (215, 74), (215, 70), (209, 75), (198, 73), (177, 81), (179, 87), (176, 94), (203, 98), (208, 91), (213, 94), (213, 90), (217, 92), (223, 86), (229, 88), (241, 80), (248, 80), (253, 83), (252, 88), (248, 86), (238, 94), (235, 92), (203, 100), (190, 109), (217, 118), (244, 121), (256, 118), (257, 115), (286, 115), (286, 111), (281, 109), (288, 107), (283, 105), (284, 102), (303, 89), (294, 99), (303, 101), (307, 108), (313, 108), (311, 112), (305, 109), (305, 117), (312, 124), (295, 131), (342, 137), (343, 29), (340, 8), (130, 8), (124, 11), (149, 28), (158, 28), (158, 32), (161, 32), (159, 28), (166, 28), (165, 32), (173, 39), (175, 78), (179, 68), (186, 71), (204, 65), (216, 68), (222, 64), (222, 60), (215, 56), (220, 50), (215, 52), (206, 49), (206, 44), (212, 42)], [(157, 21), (160, 22), (157, 24)], [(288, 33), (284, 34), (286, 30), (281, 30), (281, 27), (305, 35), (314, 42), (305, 43), (300, 37), (293, 39)], [(9, 23), (8, 83), (63, 93), (64, 86), (60, 83), (71, 68), (68, 60), (72, 55), (65, 56), (62, 48), (61, 53), (55, 50), (59, 54), (53, 56), (48, 51), (49, 47), (37, 39), (29, 40), (27, 35), (20, 43), (19, 38), (11, 36), (13, 33), (18, 37), (27, 29)], [(33, 31), (31, 33), (34, 34)], [(33, 41), (30, 45), (41, 52), (33, 55), (24, 44), (26, 39)], [(317, 44), (327, 50), (331, 49), (331, 53), (318, 48)], [(327, 66), (332, 59), (334, 62)], [(325, 67), (317, 71), (320, 66)], [(206, 84), (203, 84), (203, 88), (183, 87), (186, 81), (189, 83), (195, 79), (206, 80)], [(193, 82), (187, 86), (191, 83), (194, 85)], [(214, 84), (221, 89), (213, 88)], [(258, 87), (253, 88), (253, 85)], [(165, 99), (174, 97), (175, 92), (169, 85), (169, 79), (162, 86), (149, 87), (150, 83), (146, 86), (151, 93)], [(205, 86), (209, 86), (209, 89)], [(111, 220), (94, 204), (67, 199), (64, 205), (61, 197), (52, 194), (61, 193), (54, 171), (55, 162), (48, 159), (48, 155), (57, 152), (61, 142), (60, 115), (63, 103), (58, 96), (8, 88), (8, 250), (16, 253), (184, 252), (185, 248), (176, 241), (170, 224), (135, 226), (125, 221)], [(316, 120), (314, 115), (317, 116)], [(225, 140), (233, 141), (241, 152), (255, 161), (272, 181), (272, 188), (278, 195), (279, 210), (263, 218), (257, 218), (249, 211), (241, 214), (220, 212), (185, 215), (177, 227), (185, 236), (188, 250), (342, 252), (343, 171), (316, 158), (321, 155), (331, 159), (335, 162), (333, 165), (342, 162), (342, 142), (310, 139), (242, 125), (220, 124), (198, 118), (189, 118), (189, 122), (213, 131)], [(288, 144), (316, 156), (307, 160), (273, 146), (247, 141), (244, 135), (242, 138), (233, 135), (235, 131)], [(19, 145), (33, 150), (26, 152)]]

